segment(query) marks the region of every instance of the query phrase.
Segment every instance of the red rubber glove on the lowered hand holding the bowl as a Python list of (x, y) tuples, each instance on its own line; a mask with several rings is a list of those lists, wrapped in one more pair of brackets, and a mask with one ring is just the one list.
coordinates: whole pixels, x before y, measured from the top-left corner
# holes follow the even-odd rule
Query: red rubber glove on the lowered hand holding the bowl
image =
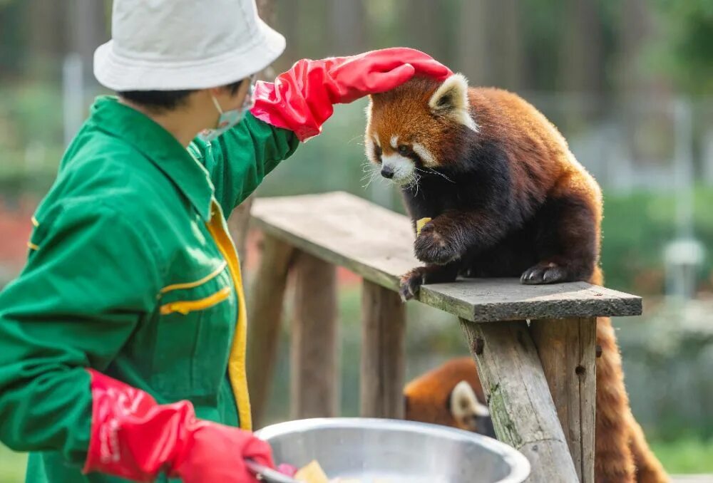
[(188, 401), (158, 405), (142, 390), (88, 372), (93, 402), (85, 473), (150, 482), (164, 471), (185, 483), (257, 483), (243, 459), (275, 467), (270, 446), (251, 432), (199, 420)]

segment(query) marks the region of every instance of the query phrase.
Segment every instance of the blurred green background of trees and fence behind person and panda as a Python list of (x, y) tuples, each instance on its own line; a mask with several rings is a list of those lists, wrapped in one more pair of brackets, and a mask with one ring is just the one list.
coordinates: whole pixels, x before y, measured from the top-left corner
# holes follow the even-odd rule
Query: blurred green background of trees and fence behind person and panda
[[(412, 46), (558, 125), (605, 192), (607, 285), (645, 296), (644, 316), (615, 321), (635, 415), (671, 472), (713, 472), (713, 1), (258, 3), (287, 37), (268, 76), (299, 58)], [(0, 0), (0, 288), (24, 264), (29, 217), (66, 142), (104, 93), (91, 59), (110, 14), (111, 1)], [(260, 195), (342, 189), (400, 211), (392, 187), (361, 180), (365, 106), (338, 106)], [(340, 280), (342, 412), (356, 415), (359, 286)], [(409, 311), (409, 377), (467, 353), (450, 317)], [(271, 421), (288, 415), (287, 365)], [(24, 457), (0, 447), (0, 482), (23, 474)]]

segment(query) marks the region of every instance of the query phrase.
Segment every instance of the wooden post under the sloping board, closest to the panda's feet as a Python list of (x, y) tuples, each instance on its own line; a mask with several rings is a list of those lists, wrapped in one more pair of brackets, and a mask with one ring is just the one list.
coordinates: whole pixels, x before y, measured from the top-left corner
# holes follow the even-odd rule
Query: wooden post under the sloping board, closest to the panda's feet
[(361, 416), (403, 419), (404, 303), (396, 292), (365, 280), (361, 317)]

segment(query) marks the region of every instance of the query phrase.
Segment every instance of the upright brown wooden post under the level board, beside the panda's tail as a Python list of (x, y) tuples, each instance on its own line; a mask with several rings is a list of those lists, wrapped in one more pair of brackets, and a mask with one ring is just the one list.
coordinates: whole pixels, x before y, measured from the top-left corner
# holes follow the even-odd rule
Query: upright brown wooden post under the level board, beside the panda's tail
[(530, 324), (575, 469), (594, 483), (596, 318), (545, 319)]

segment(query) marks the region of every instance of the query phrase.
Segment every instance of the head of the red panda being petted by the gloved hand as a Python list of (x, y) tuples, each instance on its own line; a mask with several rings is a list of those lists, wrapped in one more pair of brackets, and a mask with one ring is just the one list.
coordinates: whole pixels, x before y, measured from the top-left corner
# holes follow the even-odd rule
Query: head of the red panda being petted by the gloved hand
[(415, 183), (419, 172), (447, 167), (458, 158), (463, 136), (478, 132), (468, 102), (468, 81), (414, 78), (371, 95), (366, 108), (366, 157), (397, 185)]

